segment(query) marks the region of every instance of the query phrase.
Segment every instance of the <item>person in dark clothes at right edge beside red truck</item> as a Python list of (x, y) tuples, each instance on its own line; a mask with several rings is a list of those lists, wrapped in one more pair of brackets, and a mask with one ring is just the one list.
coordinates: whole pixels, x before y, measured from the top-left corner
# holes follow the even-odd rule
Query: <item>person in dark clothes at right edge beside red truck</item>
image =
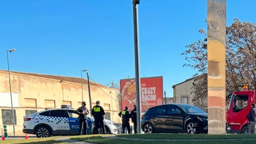
[(251, 104), (251, 110), (249, 112), (249, 115), (247, 115), (247, 118), (249, 120), (248, 123), (248, 132), (247, 134), (250, 134), (251, 130), (253, 129), (253, 134), (256, 134), (256, 108), (255, 103)]

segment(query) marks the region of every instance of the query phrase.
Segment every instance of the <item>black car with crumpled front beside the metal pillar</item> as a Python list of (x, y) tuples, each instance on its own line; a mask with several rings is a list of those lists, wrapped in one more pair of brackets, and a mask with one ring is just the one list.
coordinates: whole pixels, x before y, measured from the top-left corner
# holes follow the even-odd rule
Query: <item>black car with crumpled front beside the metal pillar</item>
[(141, 117), (141, 129), (151, 133), (208, 132), (208, 114), (190, 104), (164, 104), (149, 108)]

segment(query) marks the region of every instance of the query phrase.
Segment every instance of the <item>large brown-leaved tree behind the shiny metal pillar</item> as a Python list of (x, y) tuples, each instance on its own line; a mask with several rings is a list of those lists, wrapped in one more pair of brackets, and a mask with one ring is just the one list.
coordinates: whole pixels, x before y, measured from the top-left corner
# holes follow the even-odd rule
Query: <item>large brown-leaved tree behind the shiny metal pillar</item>
[[(183, 66), (197, 70), (193, 76), (195, 84), (192, 92), (196, 106), (207, 110), (207, 34), (203, 29), (199, 32), (204, 39), (186, 45), (187, 61)], [(256, 87), (256, 25), (234, 19), (231, 26), (226, 27), (226, 94), (239, 91), (248, 84), (248, 89)], [(229, 99), (226, 99), (227, 103)]]

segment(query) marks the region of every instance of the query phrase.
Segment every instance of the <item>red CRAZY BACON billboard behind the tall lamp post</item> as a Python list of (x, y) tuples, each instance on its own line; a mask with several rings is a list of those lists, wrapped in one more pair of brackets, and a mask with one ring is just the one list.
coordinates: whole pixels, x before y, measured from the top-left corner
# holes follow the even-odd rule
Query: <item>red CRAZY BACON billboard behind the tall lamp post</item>
[[(122, 109), (136, 105), (135, 78), (120, 80)], [(141, 111), (163, 104), (163, 77), (141, 78)]]

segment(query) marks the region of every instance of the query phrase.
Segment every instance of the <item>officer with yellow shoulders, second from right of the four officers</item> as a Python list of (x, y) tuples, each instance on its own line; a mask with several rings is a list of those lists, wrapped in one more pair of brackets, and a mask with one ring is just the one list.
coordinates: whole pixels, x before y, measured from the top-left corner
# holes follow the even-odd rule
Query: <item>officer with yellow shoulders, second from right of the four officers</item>
[[(118, 113), (118, 115), (122, 118), (122, 128), (123, 128), (123, 134), (125, 131), (125, 127), (128, 130), (128, 134), (131, 134), (131, 128), (130, 128), (130, 114), (128, 111), (128, 106), (125, 106), (125, 109), (123, 111), (121, 111), (120, 113)], [(121, 116), (122, 115), (122, 116)]]

